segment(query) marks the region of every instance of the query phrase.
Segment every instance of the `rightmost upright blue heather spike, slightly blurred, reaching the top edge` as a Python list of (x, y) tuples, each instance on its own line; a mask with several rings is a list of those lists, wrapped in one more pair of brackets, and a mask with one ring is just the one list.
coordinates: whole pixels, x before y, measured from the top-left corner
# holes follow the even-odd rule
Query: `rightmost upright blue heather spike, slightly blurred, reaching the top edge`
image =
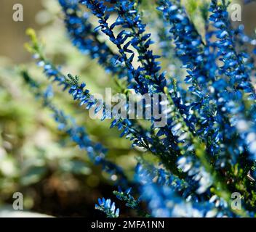
[[(225, 164), (225, 157), (229, 153), (229, 160), (232, 164), (237, 162), (239, 155), (241, 154), (241, 144), (243, 138), (237, 136), (236, 128), (233, 127), (231, 118), (238, 113), (238, 107), (235, 107), (235, 102), (239, 101), (239, 110), (243, 110), (243, 96), (246, 95), (248, 99), (255, 100), (255, 88), (252, 86), (250, 80), (250, 68), (244, 62), (248, 58), (244, 52), (237, 52), (236, 41), (239, 39), (241, 43), (241, 31), (240, 33), (231, 28), (231, 24), (228, 20), (227, 5), (212, 1), (210, 12), (212, 14), (209, 20), (212, 22), (215, 28), (215, 46), (217, 47), (217, 59), (223, 63), (223, 66), (218, 67), (217, 78), (212, 84), (215, 94), (215, 102), (218, 108), (220, 124), (220, 138), (225, 141), (225, 152), (221, 152), (222, 161), (220, 163)], [(253, 107), (254, 104), (252, 104)], [(228, 144), (229, 140), (236, 140)], [(223, 146), (223, 145), (222, 145)], [(221, 159), (220, 159), (221, 160)]]

